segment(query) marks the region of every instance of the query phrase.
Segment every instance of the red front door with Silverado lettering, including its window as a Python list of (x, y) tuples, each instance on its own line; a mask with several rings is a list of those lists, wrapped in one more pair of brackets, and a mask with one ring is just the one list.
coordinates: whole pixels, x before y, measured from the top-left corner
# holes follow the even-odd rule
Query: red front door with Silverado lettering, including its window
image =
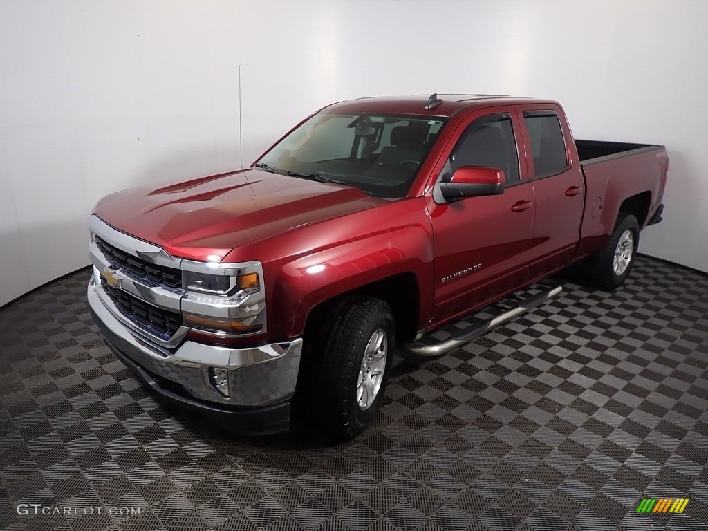
[(529, 278), (534, 192), (526, 178), (523, 146), (513, 108), (472, 113), (463, 120), (440, 162), (439, 181), (460, 166), (503, 169), (501, 195), (453, 202), (428, 196), (435, 247), (435, 322), (466, 312)]

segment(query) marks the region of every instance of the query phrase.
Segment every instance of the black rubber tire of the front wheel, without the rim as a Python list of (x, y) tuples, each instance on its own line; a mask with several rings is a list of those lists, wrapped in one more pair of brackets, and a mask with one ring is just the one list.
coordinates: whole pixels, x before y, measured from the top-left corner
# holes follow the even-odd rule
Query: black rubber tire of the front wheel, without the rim
[[(377, 381), (375, 399), (362, 408), (358, 399), (358, 378), (369, 341), (377, 331), (377, 338), (385, 343), (383, 372)], [(319, 418), (319, 428), (329, 438), (354, 438), (374, 420), (381, 406), (394, 356), (394, 317), (389, 305), (372, 297), (348, 297), (333, 307), (316, 334), (311, 352), (317, 359), (314, 388), (310, 396), (317, 398), (310, 404), (311, 414)], [(380, 362), (379, 356), (379, 362)], [(312, 367), (312, 364), (308, 364)], [(320, 416), (320, 413), (322, 415)]]

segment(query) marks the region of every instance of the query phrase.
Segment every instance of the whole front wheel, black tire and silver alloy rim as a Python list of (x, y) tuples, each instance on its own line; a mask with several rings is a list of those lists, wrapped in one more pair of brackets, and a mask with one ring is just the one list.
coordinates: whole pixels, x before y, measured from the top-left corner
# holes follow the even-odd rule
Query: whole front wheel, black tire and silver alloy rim
[(353, 438), (370, 425), (381, 406), (394, 354), (394, 317), (373, 297), (350, 297), (338, 304), (319, 342), (319, 404), (324, 430)]

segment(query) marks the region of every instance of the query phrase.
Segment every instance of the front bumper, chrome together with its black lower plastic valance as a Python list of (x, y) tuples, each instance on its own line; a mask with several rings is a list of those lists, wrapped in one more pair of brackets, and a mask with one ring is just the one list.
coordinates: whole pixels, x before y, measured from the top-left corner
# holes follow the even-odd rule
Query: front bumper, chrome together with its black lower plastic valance
[[(106, 345), (156, 394), (239, 433), (265, 435), (289, 428), (302, 339), (235, 350), (184, 341), (165, 355), (123, 325), (98, 290), (92, 279), (87, 298)], [(229, 397), (210, 381), (213, 368), (228, 371)]]

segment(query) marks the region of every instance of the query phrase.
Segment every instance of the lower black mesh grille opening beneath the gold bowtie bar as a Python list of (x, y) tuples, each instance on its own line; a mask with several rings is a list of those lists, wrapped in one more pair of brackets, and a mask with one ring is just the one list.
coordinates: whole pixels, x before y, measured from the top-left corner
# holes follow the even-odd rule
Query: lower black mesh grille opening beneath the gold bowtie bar
[(155, 336), (167, 340), (174, 336), (183, 324), (182, 314), (147, 304), (147, 302), (133, 297), (130, 293), (111, 287), (103, 276), (101, 277), (101, 287), (121, 314)]

